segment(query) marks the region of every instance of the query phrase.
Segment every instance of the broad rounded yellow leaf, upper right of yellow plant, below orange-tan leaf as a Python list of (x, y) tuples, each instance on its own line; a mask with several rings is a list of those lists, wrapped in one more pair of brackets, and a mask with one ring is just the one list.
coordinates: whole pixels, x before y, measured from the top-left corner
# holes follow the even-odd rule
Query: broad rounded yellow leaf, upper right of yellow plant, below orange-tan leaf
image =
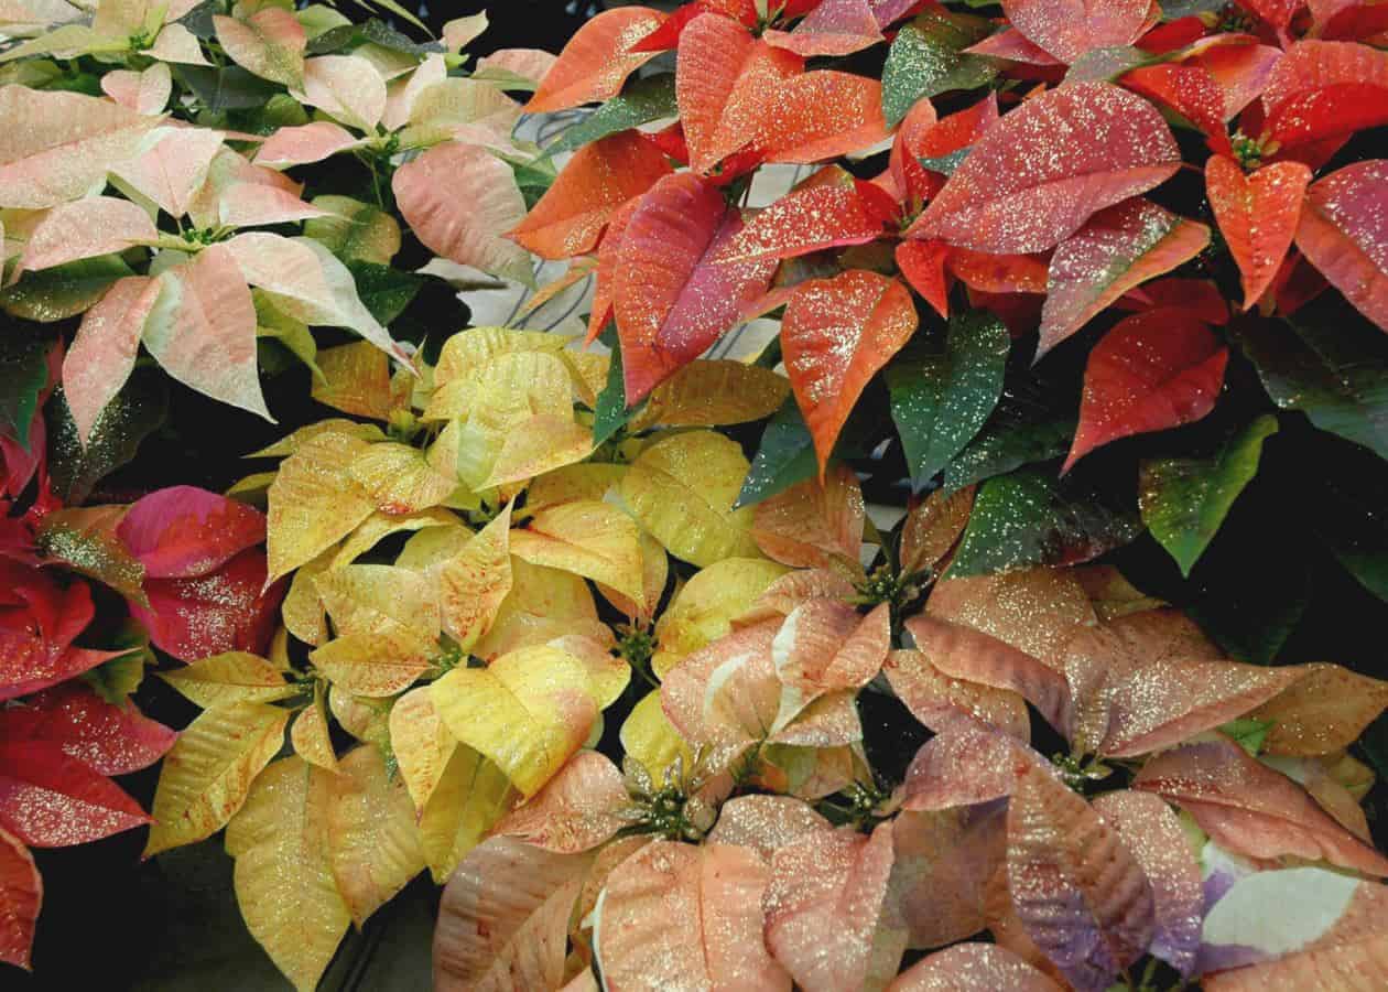
[(622, 499), (677, 559), (705, 567), (761, 557), (752, 507), (733, 510), (748, 461), (737, 442), (712, 431), (665, 438), (641, 452), (622, 478)]

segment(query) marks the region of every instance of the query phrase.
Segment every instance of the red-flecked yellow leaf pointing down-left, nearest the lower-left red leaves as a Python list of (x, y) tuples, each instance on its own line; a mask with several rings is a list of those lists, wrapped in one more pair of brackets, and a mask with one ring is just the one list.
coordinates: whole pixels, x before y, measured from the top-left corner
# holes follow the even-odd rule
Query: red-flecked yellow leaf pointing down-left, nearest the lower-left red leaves
[(200, 713), (164, 756), (144, 856), (203, 841), (225, 827), (283, 745), (287, 721), (289, 710), (264, 703)]

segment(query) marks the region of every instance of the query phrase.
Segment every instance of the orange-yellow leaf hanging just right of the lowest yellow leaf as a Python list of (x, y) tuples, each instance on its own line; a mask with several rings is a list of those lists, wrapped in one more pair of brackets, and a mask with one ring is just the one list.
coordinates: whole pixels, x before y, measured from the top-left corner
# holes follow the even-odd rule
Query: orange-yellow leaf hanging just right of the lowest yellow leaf
[(328, 814), (333, 878), (359, 927), (425, 868), (415, 806), (376, 747), (357, 747), (337, 763)]

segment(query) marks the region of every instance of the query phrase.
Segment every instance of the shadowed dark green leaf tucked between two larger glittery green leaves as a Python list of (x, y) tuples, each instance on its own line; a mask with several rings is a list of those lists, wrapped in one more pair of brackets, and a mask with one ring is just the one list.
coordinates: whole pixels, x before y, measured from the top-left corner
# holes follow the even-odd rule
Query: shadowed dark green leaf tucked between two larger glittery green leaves
[(974, 438), (945, 470), (945, 492), (1010, 472), (1022, 465), (1058, 458), (1070, 450), (1074, 414), (1051, 404), (1045, 382), (1017, 379), (1004, 386), (1002, 399)]

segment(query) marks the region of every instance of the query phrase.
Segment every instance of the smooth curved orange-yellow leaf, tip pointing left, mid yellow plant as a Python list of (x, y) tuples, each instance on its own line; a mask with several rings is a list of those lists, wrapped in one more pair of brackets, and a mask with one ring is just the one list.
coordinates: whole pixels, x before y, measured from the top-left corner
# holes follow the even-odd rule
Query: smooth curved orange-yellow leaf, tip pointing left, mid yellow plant
[(638, 535), (636, 522), (611, 503), (582, 500), (534, 514), (511, 534), (511, 553), (638, 599), (645, 588)]

